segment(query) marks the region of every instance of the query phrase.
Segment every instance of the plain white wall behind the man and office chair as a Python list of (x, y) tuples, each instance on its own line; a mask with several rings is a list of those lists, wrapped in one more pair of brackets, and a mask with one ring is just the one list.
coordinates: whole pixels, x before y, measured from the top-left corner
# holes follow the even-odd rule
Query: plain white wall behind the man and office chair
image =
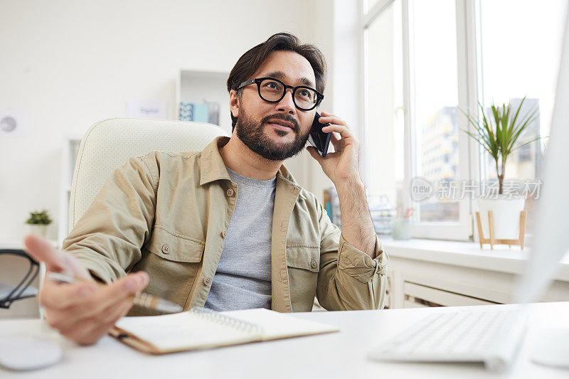
[[(289, 31), (326, 55), (321, 109), (331, 110), (333, 6), (326, 0), (0, 0), (0, 108), (29, 116), (26, 137), (0, 137), (0, 240), (21, 240), (28, 212), (39, 208), (55, 218), (49, 230), (55, 240), (58, 218), (67, 217), (58, 215), (63, 136), (124, 117), (129, 98), (166, 100), (174, 118), (179, 68), (229, 71), (246, 50)], [(310, 160), (304, 152), (287, 166), (321, 198), (323, 174)]]

